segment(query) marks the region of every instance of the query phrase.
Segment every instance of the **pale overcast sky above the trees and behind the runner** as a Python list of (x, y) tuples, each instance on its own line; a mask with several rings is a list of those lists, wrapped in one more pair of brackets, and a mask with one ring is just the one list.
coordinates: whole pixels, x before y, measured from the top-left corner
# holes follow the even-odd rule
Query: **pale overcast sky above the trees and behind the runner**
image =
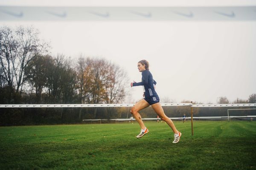
[[(20, 24), (38, 28), (53, 56), (104, 57), (125, 69), (131, 82), (141, 80), (137, 62), (148, 60), (160, 99), (216, 103), (220, 96), (232, 102), (256, 93), (256, 21), (0, 21)], [(129, 90), (127, 102), (142, 98), (142, 87)]]

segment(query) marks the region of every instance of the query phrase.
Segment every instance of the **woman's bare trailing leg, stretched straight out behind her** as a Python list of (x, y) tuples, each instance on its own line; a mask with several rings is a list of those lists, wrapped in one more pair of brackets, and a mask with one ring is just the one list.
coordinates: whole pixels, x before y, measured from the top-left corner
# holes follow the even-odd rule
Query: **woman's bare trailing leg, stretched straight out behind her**
[(165, 115), (165, 113), (163, 111), (163, 108), (160, 105), (160, 103), (155, 103), (155, 104), (153, 104), (151, 106), (154, 109), (154, 111), (157, 113), (157, 115), (172, 128), (172, 131), (174, 133), (178, 133), (178, 130), (176, 129), (176, 127), (175, 127), (174, 123), (172, 122), (172, 120), (169, 119), (169, 117), (167, 117)]

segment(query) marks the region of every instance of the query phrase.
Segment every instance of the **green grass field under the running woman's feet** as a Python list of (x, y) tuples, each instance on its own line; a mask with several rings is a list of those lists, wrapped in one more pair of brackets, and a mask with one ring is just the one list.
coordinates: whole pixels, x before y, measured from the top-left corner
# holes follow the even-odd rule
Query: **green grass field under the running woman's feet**
[(0, 169), (256, 169), (256, 122), (175, 122), (172, 144), (165, 123), (0, 127)]

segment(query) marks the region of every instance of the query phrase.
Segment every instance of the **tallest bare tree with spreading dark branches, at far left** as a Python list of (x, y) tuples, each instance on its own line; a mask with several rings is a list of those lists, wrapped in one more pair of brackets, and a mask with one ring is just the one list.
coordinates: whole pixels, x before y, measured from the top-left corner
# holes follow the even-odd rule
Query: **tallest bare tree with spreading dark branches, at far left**
[(47, 52), (49, 48), (38, 35), (39, 31), (32, 26), (20, 26), (15, 31), (6, 26), (0, 28), (0, 64), (3, 78), (9, 87), (16, 87), (16, 93), (22, 92), (25, 70), (29, 62), (37, 54)]

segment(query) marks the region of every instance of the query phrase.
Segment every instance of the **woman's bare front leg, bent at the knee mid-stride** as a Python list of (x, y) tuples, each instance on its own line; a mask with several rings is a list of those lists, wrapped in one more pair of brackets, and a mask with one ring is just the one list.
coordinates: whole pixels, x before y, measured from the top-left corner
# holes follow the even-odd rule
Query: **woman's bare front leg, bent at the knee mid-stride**
[(145, 125), (144, 125), (144, 123), (141, 119), (140, 113), (138, 113), (138, 111), (140, 111), (144, 108), (147, 108), (148, 106), (149, 106), (148, 102), (146, 102), (144, 99), (141, 99), (131, 109), (131, 114), (134, 116), (136, 121), (139, 123), (141, 129), (145, 129)]

